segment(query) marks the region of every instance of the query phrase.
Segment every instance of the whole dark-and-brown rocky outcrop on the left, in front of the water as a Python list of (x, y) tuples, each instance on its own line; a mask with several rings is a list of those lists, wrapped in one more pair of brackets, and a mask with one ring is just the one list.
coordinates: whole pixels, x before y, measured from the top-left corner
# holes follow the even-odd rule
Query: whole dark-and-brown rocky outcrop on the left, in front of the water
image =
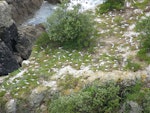
[(18, 69), (21, 62), (29, 58), (39, 35), (34, 26), (17, 28), (10, 13), (7, 2), (0, 1), (0, 75)]

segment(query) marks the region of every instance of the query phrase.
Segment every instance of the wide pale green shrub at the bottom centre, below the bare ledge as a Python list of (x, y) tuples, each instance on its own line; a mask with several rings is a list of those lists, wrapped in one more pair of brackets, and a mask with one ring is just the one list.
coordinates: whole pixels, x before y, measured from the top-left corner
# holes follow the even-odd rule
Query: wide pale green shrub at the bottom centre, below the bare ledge
[(118, 93), (115, 83), (92, 84), (79, 93), (52, 100), (49, 110), (50, 113), (116, 113)]

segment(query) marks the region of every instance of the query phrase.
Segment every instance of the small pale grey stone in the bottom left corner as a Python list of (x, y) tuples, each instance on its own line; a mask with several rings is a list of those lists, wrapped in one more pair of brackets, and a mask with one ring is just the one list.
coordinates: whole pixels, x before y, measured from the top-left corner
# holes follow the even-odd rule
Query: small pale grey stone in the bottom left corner
[(6, 113), (16, 113), (17, 100), (11, 99), (6, 103)]

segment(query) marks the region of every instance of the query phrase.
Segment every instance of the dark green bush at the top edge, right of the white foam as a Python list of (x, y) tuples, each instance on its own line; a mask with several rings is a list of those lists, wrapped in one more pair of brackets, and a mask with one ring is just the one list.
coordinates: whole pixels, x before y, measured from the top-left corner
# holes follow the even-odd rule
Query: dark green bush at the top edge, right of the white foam
[(97, 14), (107, 13), (109, 11), (121, 10), (124, 7), (125, 0), (106, 0), (103, 4), (99, 5), (96, 9)]

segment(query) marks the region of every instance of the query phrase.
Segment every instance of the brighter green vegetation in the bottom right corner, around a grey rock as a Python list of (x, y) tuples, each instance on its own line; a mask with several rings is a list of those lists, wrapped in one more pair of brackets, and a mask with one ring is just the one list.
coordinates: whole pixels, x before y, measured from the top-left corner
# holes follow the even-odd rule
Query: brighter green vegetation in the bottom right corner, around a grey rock
[[(133, 81), (132, 81), (133, 82)], [(130, 86), (121, 86), (122, 89), (122, 101), (127, 104), (127, 101), (136, 102), (142, 108), (142, 113), (150, 112), (150, 88), (145, 87), (145, 84), (141, 81), (137, 81), (136, 84), (132, 84)], [(125, 101), (126, 100), (126, 101)], [(127, 105), (126, 105), (127, 107)], [(126, 111), (129, 111), (131, 108), (126, 108)], [(129, 113), (129, 112), (127, 112)]]

